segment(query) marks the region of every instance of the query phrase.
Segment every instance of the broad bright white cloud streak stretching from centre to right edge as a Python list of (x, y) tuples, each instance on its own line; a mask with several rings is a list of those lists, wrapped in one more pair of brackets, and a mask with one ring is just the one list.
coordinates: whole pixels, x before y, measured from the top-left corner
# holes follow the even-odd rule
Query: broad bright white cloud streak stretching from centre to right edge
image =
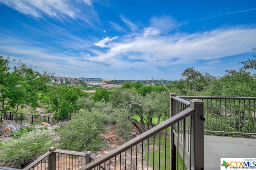
[[(215, 60), (248, 52), (255, 44), (253, 38), (255, 34), (255, 28), (237, 27), (163, 36), (154, 28), (144, 28), (142, 33), (132, 39), (122, 38), (114, 43), (111, 43), (110, 38), (101, 40), (97, 45), (109, 49), (106, 53), (94, 56), (91, 61), (108, 62), (112, 65), (118, 63), (116, 65), (119, 67), (125, 67), (127, 63), (130, 63), (130, 67), (141, 66), (143, 63), (145, 67), (148, 64), (154, 67), (160, 65), (168, 67), (196, 60)], [(154, 35), (154, 37), (149, 35)], [(108, 45), (105, 45), (106, 42)], [(132, 57), (132, 61), (129, 61), (131, 58), (127, 57), (127, 53), (134, 51), (136, 55)], [(138, 62), (134, 62), (136, 59)]]

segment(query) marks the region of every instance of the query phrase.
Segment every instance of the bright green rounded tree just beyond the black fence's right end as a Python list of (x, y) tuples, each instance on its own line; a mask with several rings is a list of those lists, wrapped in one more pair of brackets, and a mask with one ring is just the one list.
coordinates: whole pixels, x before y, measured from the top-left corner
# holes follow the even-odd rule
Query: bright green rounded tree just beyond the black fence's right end
[(64, 120), (68, 115), (76, 113), (80, 109), (76, 101), (86, 95), (87, 93), (78, 86), (53, 86), (49, 93), (51, 107), (49, 111), (55, 111), (54, 116)]

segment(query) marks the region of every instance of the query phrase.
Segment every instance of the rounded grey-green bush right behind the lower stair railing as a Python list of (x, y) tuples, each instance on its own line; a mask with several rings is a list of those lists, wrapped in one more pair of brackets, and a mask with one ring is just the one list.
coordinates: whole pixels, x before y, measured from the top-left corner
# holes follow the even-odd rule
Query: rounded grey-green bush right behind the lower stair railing
[(100, 134), (106, 131), (106, 122), (107, 116), (98, 110), (80, 110), (58, 131), (60, 147), (79, 152), (100, 150), (103, 146)]

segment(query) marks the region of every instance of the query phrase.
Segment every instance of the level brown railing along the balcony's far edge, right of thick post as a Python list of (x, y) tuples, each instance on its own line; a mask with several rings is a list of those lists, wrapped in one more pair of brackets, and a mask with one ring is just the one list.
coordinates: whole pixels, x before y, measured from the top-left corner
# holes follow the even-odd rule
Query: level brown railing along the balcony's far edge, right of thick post
[(204, 101), (204, 132), (228, 136), (256, 137), (256, 97), (180, 96)]

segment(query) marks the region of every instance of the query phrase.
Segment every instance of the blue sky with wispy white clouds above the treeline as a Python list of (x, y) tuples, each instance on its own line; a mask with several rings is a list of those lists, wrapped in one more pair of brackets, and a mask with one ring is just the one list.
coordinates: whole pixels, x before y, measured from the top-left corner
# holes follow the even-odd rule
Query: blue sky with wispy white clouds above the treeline
[(222, 76), (256, 54), (255, 0), (0, 0), (0, 16), (0, 55), (61, 77)]

